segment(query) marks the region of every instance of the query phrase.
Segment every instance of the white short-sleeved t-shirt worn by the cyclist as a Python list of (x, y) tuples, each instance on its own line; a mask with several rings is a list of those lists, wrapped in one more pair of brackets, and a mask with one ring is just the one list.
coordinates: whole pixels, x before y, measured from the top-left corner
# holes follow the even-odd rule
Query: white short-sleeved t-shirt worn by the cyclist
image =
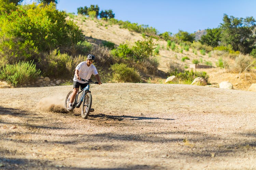
[[(79, 77), (85, 80), (90, 79), (91, 74), (93, 75), (98, 74), (96, 67), (93, 64), (91, 64), (90, 66), (87, 66), (87, 62), (79, 63), (79, 65), (77, 65), (75, 69), (79, 71), (78, 73)], [(79, 82), (79, 83), (87, 83), (87, 82), (76, 79), (75, 75), (74, 75), (73, 81)]]

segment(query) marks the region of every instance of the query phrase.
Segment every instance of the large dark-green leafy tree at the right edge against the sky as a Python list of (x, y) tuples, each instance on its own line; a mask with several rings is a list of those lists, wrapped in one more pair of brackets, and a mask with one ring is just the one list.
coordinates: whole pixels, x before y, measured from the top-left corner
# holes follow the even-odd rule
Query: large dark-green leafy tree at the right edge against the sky
[(235, 18), (224, 14), (221, 23), (221, 40), (224, 46), (231, 45), (234, 51), (250, 53), (255, 46), (255, 19)]

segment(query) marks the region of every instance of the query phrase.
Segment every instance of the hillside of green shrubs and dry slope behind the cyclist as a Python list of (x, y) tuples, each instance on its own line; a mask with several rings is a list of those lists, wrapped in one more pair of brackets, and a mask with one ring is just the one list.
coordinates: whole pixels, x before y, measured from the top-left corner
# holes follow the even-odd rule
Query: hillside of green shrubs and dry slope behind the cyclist
[[(198, 75), (208, 84), (230, 81), (235, 89), (255, 82), (253, 17), (224, 15), (220, 28), (207, 29), (195, 41), (195, 33), (158, 34), (155, 28), (116, 20), (112, 11), (90, 9), (75, 16), (56, 10), (55, 3), (15, 5), (1, 0), (0, 79), (13, 86), (38, 75), (70, 80), (75, 66), (92, 53), (103, 82), (163, 83), (170, 75), (185, 84)], [(242, 35), (241, 41), (234, 41)], [(213, 68), (192, 71), (190, 64)], [(8, 71), (12, 68), (18, 71)], [(30, 68), (33, 71), (24, 75)]]

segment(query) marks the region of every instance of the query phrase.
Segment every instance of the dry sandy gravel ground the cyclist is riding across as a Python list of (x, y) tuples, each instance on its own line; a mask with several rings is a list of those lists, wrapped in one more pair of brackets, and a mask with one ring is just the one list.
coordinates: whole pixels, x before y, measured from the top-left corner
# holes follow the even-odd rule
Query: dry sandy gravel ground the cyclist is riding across
[(256, 169), (256, 92), (95, 85), (83, 119), (71, 89), (0, 89), (0, 169)]

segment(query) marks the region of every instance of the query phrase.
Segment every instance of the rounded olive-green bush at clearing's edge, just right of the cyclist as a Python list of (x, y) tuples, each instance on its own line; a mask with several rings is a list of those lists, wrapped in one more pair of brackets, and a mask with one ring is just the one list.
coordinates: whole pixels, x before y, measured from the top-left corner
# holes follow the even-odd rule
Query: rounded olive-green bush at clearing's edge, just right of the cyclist
[(111, 66), (111, 70), (113, 71), (113, 80), (117, 82), (138, 83), (141, 80), (139, 73), (126, 64), (114, 64)]

